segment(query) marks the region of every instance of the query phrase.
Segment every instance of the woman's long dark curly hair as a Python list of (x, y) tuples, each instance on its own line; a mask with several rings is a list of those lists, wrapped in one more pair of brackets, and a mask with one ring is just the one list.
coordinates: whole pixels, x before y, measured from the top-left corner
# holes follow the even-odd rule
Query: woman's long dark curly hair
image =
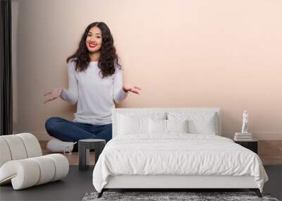
[(75, 54), (69, 56), (68, 59), (66, 59), (66, 62), (68, 63), (68, 61), (73, 59), (73, 61), (75, 61), (75, 71), (85, 71), (87, 69), (90, 63), (90, 56), (86, 46), (86, 38), (89, 30), (95, 26), (102, 32), (102, 46), (99, 50), (100, 57), (98, 67), (101, 69), (102, 78), (104, 78), (115, 73), (114, 62), (116, 62), (118, 68), (121, 69), (121, 64), (118, 63), (116, 48), (114, 47), (114, 38), (106, 23), (95, 22), (88, 25), (80, 39), (78, 50), (75, 51)]

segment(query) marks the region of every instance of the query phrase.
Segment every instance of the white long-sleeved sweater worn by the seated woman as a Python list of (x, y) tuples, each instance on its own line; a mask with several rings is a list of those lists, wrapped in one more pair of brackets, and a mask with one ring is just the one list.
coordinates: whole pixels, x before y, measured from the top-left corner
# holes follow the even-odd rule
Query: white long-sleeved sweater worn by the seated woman
[[(75, 71), (75, 62), (68, 62), (68, 90), (64, 89), (61, 99), (71, 104), (78, 103), (73, 121), (102, 125), (111, 123), (111, 112), (114, 102), (118, 103), (127, 97), (123, 91), (122, 71), (102, 78), (98, 61), (90, 62), (86, 71)], [(100, 72), (100, 73), (99, 73)]]

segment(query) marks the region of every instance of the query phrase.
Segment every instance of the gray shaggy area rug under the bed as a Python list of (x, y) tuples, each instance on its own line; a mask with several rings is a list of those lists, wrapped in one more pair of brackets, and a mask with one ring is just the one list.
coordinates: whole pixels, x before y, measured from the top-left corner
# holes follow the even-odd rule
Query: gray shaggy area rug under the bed
[(94, 200), (231, 200), (231, 201), (243, 201), (243, 200), (267, 200), (278, 201), (274, 197), (270, 197), (269, 194), (262, 194), (262, 198), (257, 197), (254, 192), (109, 192), (103, 193), (102, 197), (97, 198), (98, 193), (86, 193), (82, 198), (82, 201), (94, 201)]

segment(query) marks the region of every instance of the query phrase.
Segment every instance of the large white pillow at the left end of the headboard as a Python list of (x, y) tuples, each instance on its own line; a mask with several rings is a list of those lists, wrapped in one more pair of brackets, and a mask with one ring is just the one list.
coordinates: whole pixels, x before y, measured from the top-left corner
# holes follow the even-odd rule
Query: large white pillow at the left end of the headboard
[(149, 117), (119, 115), (118, 118), (118, 135), (149, 133)]

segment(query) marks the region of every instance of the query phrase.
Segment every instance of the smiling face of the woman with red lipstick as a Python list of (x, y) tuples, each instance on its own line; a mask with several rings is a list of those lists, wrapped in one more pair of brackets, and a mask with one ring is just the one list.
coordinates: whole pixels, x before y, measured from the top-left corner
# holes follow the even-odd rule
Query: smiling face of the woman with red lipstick
[(88, 51), (94, 53), (102, 47), (102, 32), (98, 27), (93, 27), (89, 30), (86, 37), (86, 46)]

